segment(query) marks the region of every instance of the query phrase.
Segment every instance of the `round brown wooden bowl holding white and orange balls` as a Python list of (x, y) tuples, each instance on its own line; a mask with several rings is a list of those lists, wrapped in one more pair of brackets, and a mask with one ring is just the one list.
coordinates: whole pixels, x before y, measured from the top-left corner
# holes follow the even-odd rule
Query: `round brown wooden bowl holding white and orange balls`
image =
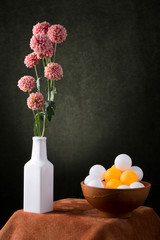
[(149, 194), (151, 184), (141, 181), (145, 187), (131, 189), (109, 189), (90, 187), (81, 182), (85, 199), (98, 209), (99, 216), (128, 218), (141, 206)]

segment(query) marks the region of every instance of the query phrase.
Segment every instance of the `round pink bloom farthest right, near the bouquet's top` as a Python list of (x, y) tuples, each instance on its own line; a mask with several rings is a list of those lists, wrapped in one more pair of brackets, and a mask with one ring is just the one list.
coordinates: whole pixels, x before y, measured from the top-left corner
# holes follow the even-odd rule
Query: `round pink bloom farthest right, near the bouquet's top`
[(67, 37), (67, 31), (66, 31), (65, 27), (63, 27), (60, 24), (52, 25), (48, 29), (47, 34), (48, 34), (50, 40), (55, 43), (61, 43), (64, 40), (66, 40), (66, 37)]

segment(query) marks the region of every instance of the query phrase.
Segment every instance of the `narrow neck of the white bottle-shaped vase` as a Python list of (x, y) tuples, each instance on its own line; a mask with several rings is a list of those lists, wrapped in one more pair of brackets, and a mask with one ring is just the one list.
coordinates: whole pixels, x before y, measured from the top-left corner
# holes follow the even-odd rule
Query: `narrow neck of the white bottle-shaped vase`
[(47, 160), (46, 137), (33, 137), (31, 160)]

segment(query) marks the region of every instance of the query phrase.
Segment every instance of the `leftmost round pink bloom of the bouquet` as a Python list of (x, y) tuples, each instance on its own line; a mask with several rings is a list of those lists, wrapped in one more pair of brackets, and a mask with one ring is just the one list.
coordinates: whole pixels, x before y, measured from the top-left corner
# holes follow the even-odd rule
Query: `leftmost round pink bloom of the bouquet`
[(36, 81), (32, 76), (24, 76), (18, 81), (18, 87), (23, 91), (31, 91), (36, 85)]

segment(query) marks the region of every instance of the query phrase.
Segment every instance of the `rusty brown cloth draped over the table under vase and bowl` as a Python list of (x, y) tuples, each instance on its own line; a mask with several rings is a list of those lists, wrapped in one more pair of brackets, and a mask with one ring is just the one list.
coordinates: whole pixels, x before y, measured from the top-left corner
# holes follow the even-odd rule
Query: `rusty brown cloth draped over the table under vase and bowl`
[(128, 219), (103, 218), (84, 199), (54, 202), (46, 214), (16, 211), (0, 231), (0, 240), (159, 240), (160, 218), (139, 207)]

